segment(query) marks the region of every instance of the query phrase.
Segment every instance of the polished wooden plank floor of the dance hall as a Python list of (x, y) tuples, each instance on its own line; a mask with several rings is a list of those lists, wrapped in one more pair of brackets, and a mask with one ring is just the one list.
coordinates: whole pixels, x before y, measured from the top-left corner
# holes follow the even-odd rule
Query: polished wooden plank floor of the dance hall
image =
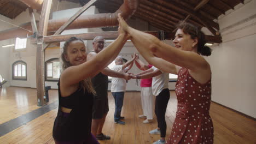
[[(38, 109), (36, 89), (8, 87), (0, 88), (0, 124)], [(49, 91), (50, 103), (57, 100), (57, 90)], [(177, 110), (177, 99), (173, 91), (166, 111), (167, 137), (171, 133), (172, 123)], [(52, 137), (53, 122), (57, 110), (28, 122), (10, 133), (0, 137), (0, 143), (54, 143)], [(143, 124), (138, 118), (142, 114), (139, 92), (126, 92), (122, 116), (125, 125), (113, 123), (114, 100), (109, 93), (109, 113), (103, 133), (111, 140), (104, 143), (153, 143), (159, 135), (150, 135), (148, 131), (156, 128), (156, 118), (150, 124)], [(214, 125), (214, 143), (256, 143), (256, 122), (223, 106), (212, 103), (210, 115)]]

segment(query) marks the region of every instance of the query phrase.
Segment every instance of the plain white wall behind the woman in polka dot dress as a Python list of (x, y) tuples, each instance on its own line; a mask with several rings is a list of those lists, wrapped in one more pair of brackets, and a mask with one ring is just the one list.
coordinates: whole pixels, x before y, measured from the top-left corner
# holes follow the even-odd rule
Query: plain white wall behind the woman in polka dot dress
[(223, 43), (207, 57), (212, 100), (256, 118), (256, 1), (245, 1), (218, 19)]

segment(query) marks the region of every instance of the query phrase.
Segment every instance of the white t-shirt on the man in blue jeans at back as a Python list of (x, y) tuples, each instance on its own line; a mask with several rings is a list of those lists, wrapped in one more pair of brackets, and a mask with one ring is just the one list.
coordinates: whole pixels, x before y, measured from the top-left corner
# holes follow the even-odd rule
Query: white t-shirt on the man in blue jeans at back
[[(115, 65), (113, 67), (114, 71), (119, 73), (124, 72), (122, 70), (123, 65)], [(125, 92), (126, 91), (126, 80), (118, 77), (112, 77), (111, 82), (111, 92)]]

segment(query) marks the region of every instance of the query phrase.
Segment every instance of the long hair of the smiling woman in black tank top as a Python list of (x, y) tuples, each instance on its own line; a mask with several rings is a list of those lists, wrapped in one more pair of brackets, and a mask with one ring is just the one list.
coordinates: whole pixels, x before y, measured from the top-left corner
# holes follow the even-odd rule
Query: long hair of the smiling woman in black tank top
[[(63, 46), (63, 52), (61, 53), (61, 59), (62, 59), (62, 69), (65, 70), (68, 67), (71, 67), (71, 63), (69, 63), (68, 61), (66, 61), (65, 56), (67, 56), (67, 47), (68, 45), (75, 40), (80, 40), (84, 43), (84, 41), (82, 39), (79, 39), (77, 37), (71, 37), (70, 39), (68, 39), (64, 46)], [(79, 81), (79, 88), (83, 88), (84, 91), (87, 91), (88, 93), (92, 93), (92, 94), (96, 94), (94, 87), (92, 87), (92, 82), (90, 78), (84, 79), (82, 81)]]

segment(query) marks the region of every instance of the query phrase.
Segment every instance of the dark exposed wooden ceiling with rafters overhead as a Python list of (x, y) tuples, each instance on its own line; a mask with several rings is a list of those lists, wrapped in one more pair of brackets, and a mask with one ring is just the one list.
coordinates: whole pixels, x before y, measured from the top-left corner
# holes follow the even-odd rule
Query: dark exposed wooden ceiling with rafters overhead
[[(57, 0), (56, 0), (57, 1)], [(89, 0), (60, 0), (86, 4)], [(198, 27), (207, 27), (218, 35), (218, 16), (243, 3), (243, 0), (140, 0), (136, 13), (131, 18), (148, 21), (163, 31), (173, 32), (179, 21), (185, 20)], [(94, 5), (100, 13), (114, 13), (123, 0), (98, 0)], [(19, 0), (0, 0), (0, 14), (14, 19), (27, 5)]]

